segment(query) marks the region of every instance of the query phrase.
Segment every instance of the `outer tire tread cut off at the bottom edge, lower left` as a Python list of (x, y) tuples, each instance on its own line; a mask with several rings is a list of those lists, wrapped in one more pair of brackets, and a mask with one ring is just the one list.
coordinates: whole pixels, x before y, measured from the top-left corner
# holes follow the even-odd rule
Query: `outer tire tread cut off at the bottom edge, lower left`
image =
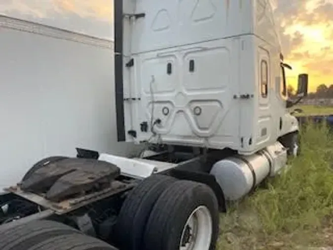
[(111, 245), (98, 240), (96, 238), (79, 235), (68, 234), (59, 235), (49, 238), (43, 242), (39, 242), (35, 246), (26, 248), (25, 250), (117, 250)]

